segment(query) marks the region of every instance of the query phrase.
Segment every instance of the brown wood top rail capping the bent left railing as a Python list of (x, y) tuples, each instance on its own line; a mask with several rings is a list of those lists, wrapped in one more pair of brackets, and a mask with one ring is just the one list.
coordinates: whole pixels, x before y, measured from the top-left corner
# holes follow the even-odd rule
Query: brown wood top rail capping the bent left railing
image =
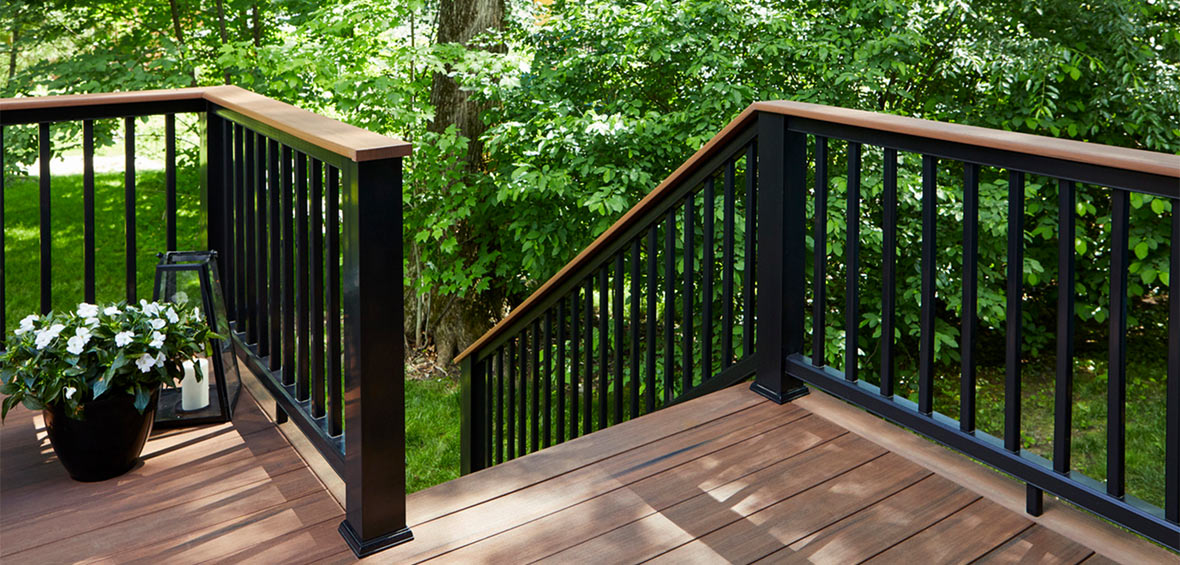
[(237, 86), (0, 98), (0, 112), (204, 99), (354, 162), (406, 157), (409, 143), (373, 133)]

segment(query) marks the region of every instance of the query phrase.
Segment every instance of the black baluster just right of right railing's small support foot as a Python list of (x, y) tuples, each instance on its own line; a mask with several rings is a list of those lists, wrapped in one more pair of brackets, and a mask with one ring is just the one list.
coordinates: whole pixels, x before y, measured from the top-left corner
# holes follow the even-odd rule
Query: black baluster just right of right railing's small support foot
[(1054, 386), (1053, 469), (1068, 474), (1074, 429), (1074, 236), (1075, 191), (1057, 182), (1057, 382)]

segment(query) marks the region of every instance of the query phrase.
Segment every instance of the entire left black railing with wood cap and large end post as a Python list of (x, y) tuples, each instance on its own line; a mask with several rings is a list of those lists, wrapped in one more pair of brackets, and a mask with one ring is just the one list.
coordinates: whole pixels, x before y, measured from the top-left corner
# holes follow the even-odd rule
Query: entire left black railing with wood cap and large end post
[[(4, 126), (39, 124), (41, 310), (94, 302), (96, 119), (124, 120), (129, 302), (138, 298), (139, 117), (165, 114), (166, 238), (168, 249), (176, 248), (177, 222), (184, 219), (176, 205), (176, 113), (201, 120), (196, 222), (208, 248), (218, 251), (240, 357), (274, 396), (280, 421), (289, 418), (345, 480), (340, 532), (353, 551), (363, 556), (412, 539), (405, 507), (402, 296), (389, 291), (391, 281), (401, 281), (405, 142), (232, 86), (0, 100)], [(52, 295), (50, 133), (78, 120), (84, 293), (64, 297)], [(4, 290), (0, 280), (0, 326)]]

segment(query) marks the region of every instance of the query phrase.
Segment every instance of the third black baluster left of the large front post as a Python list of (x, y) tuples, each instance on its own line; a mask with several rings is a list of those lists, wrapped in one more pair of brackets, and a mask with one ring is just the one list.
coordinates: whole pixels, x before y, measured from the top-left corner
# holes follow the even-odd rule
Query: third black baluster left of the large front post
[(308, 254), (308, 229), (307, 229), (307, 153), (295, 153), (295, 398), (307, 400), (310, 396), (310, 331), (309, 331), (309, 300), (308, 269), (310, 268), (310, 254)]

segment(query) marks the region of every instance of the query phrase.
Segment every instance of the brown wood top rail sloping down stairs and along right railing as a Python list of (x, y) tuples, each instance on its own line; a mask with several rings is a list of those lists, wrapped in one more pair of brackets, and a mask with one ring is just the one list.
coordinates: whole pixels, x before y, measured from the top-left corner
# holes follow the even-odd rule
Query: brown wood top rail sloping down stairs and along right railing
[(455, 362), (463, 361), (467, 356), (478, 352), (485, 344), (496, 340), (507, 330), (516, 321), (527, 315), (531, 307), (549, 297), (558, 285), (564, 283), (573, 272), (590, 263), (598, 250), (608, 245), (617, 234), (625, 231), (636, 223), (644, 213), (655, 206), (667, 193), (676, 189), (681, 180), (687, 179), (703, 165), (713, 153), (726, 143), (738, 136), (746, 126), (753, 124), (756, 112), (778, 113), (796, 118), (809, 118), (820, 121), (828, 121), (857, 127), (867, 127), (894, 133), (905, 133), (929, 139), (962, 143), (977, 147), (997, 149), (1014, 151), (1040, 157), (1073, 160), (1092, 165), (1109, 166), (1128, 171), (1146, 172), (1165, 177), (1176, 178), (1180, 182), (1180, 156), (1160, 153), (1155, 151), (1143, 151), (1138, 149), (1116, 147), (1095, 143), (1075, 142), (1071, 139), (1058, 139), (1045, 136), (1034, 136), (1030, 133), (1017, 133), (1012, 131), (991, 130), (963, 124), (949, 124), (929, 119), (907, 118), (879, 112), (866, 112), (864, 110), (850, 110), (821, 104), (809, 104), (791, 100), (759, 101), (750, 104), (736, 118), (727, 124), (713, 139), (709, 139), (700, 150), (693, 153), (684, 164), (680, 165), (651, 192), (648, 192), (638, 204), (632, 206), (623, 217), (618, 218), (607, 231), (598, 236), (594, 243), (582, 250), (551, 276), (545, 284), (542, 284), (532, 295), (525, 298), (520, 306), (499, 323), (487, 330), (481, 337), (476, 340), (470, 347), (455, 356)]

